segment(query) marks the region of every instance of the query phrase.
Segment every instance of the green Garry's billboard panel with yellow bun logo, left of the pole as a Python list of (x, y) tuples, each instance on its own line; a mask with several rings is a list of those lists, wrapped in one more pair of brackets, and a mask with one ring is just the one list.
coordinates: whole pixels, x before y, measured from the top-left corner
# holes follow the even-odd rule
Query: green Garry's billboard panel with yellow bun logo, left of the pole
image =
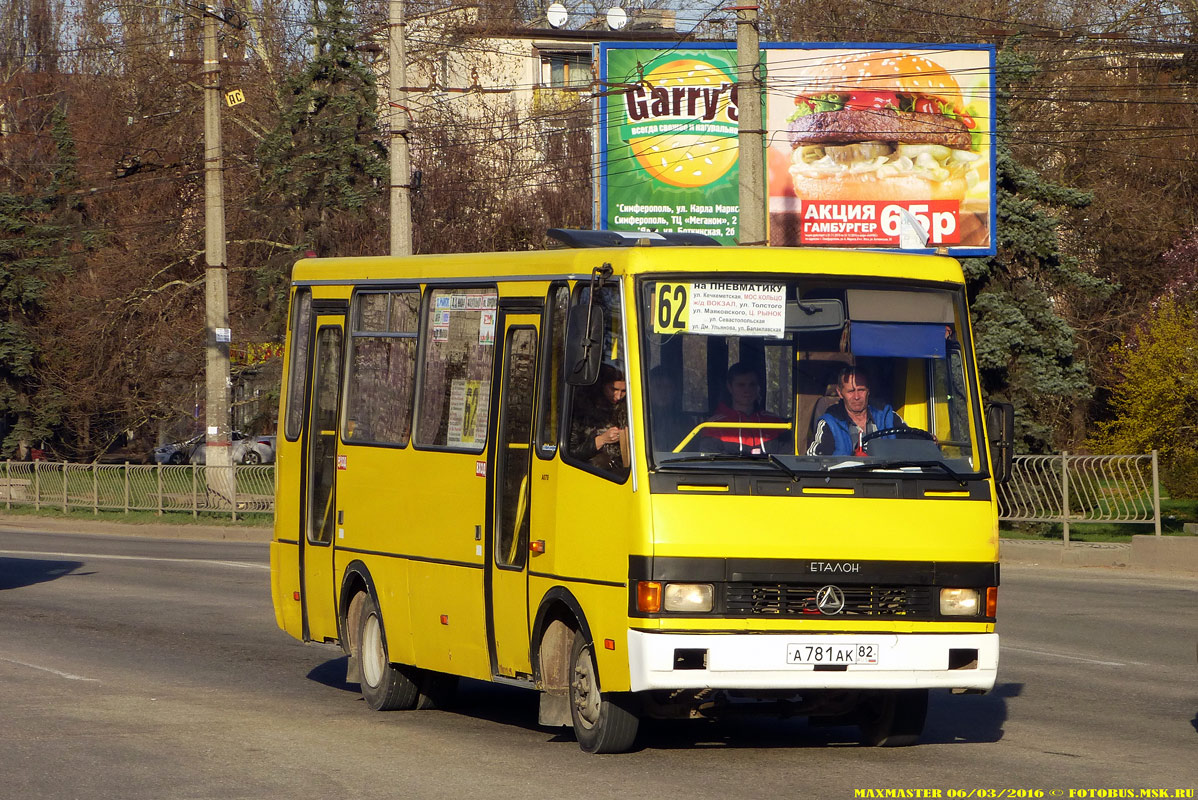
[(734, 244), (736, 50), (611, 47), (600, 57), (599, 228), (700, 232)]

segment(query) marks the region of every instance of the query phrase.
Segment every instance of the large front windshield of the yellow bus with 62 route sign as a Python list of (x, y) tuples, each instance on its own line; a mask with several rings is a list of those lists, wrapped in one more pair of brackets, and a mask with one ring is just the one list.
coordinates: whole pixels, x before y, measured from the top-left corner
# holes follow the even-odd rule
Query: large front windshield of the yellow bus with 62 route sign
[(640, 304), (654, 467), (984, 468), (958, 287), (690, 274)]

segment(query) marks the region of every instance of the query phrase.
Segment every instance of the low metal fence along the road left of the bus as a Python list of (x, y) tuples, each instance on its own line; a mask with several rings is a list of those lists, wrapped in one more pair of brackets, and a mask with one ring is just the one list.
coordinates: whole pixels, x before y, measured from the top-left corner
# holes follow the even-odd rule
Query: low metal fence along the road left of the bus
[(35, 509), (274, 514), (274, 466), (98, 465), (5, 461), (0, 501)]

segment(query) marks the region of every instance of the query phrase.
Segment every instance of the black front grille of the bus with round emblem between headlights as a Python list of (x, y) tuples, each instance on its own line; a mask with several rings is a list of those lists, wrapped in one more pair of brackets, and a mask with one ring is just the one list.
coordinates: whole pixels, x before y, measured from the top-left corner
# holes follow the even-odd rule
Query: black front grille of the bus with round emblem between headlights
[[(824, 616), (816, 604), (818, 586), (801, 583), (726, 583), (725, 610), (732, 616)], [(932, 587), (842, 586), (845, 608), (837, 617), (932, 617)]]

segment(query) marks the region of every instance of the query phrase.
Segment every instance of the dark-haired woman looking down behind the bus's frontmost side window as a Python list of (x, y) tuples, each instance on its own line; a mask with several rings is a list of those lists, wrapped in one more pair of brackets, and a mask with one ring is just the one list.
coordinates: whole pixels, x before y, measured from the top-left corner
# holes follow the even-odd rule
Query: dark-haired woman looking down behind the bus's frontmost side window
[(624, 374), (604, 364), (589, 392), (580, 390), (570, 420), (570, 454), (605, 472), (627, 473), (628, 383)]

